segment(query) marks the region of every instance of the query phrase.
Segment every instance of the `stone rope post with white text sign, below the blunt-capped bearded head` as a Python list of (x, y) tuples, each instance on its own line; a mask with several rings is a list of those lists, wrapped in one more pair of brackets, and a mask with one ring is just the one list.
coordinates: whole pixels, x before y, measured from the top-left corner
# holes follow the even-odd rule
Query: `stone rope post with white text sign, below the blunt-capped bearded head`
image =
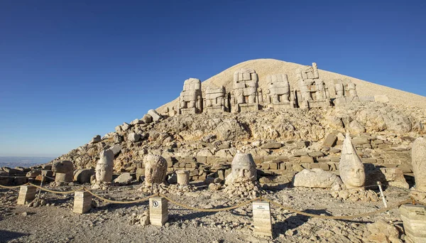
[(272, 237), (271, 207), (269, 202), (253, 202), (254, 233)]

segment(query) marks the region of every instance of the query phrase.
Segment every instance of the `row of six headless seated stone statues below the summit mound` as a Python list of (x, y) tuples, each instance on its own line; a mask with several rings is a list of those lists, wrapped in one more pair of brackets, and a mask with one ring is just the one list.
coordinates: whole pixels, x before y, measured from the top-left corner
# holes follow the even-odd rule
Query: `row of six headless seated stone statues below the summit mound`
[[(299, 90), (293, 90), (285, 74), (268, 75), (266, 106), (274, 109), (284, 107), (327, 107), (331, 105), (327, 85), (320, 79), (317, 64), (296, 70)], [(334, 80), (337, 103), (357, 101), (356, 85), (350, 80)], [(263, 91), (258, 87), (255, 70), (241, 68), (234, 72), (233, 90), (229, 93), (222, 87), (207, 87), (203, 98), (201, 81), (185, 80), (179, 99), (179, 114), (256, 111), (263, 107)], [(170, 110), (169, 112), (175, 112)]]

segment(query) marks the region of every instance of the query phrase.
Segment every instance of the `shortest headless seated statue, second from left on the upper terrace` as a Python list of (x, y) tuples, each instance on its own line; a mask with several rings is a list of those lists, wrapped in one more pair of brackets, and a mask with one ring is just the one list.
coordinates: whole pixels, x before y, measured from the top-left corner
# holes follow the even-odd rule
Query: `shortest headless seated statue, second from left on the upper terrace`
[(229, 112), (229, 97), (226, 94), (225, 87), (207, 87), (204, 98), (204, 112)]

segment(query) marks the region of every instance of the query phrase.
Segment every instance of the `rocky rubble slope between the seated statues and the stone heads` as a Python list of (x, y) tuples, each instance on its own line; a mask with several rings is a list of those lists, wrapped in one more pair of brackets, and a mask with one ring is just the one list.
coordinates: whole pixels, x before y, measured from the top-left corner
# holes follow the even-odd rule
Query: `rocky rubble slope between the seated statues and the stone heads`
[(226, 164), (239, 150), (252, 153), (258, 168), (269, 173), (285, 173), (290, 167), (297, 171), (297, 165), (314, 168), (311, 163), (333, 171), (348, 130), (365, 163), (408, 165), (405, 171), (410, 172), (410, 144), (425, 132), (425, 121), (423, 109), (371, 102), (329, 109), (177, 115), (158, 121), (147, 114), (56, 160), (89, 168), (102, 149), (114, 146), (117, 172), (135, 172), (147, 153), (164, 156), (172, 171)]

